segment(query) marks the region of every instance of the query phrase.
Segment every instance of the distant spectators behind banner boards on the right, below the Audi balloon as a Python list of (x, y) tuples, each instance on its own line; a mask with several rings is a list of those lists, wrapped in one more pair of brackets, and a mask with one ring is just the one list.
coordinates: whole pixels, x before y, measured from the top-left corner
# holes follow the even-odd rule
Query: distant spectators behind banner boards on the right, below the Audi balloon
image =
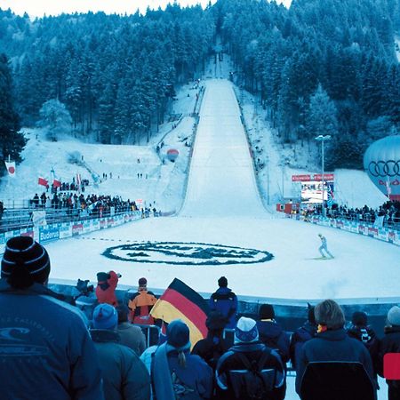
[[(322, 205), (317, 204), (304, 210), (306, 217), (322, 215)], [(400, 225), (400, 202), (388, 201), (377, 209), (364, 205), (360, 208), (349, 208), (346, 205), (333, 204), (326, 209), (326, 216), (333, 219), (354, 220), (368, 224), (381, 223), (383, 226)]]

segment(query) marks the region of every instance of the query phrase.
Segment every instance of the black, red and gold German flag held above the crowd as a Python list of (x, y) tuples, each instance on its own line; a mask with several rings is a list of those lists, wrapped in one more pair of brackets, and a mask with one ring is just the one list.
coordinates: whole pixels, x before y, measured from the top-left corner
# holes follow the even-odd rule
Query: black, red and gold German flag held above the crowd
[(156, 301), (150, 315), (162, 319), (168, 324), (174, 319), (181, 319), (188, 325), (190, 343), (193, 347), (198, 340), (207, 336), (205, 319), (208, 311), (208, 304), (203, 297), (187, 284), (175, 278)]

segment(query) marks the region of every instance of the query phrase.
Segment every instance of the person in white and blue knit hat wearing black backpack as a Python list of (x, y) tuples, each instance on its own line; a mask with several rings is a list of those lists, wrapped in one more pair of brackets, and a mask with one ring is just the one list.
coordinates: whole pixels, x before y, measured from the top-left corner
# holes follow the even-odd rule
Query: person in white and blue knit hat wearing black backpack
[[(256, 376), (251, 371), (252, 365), (257, 365)], [(220, 357), (215, 376), (222, 399), (283, 400), (285, 396), (286, 378), (281, 357), (260, 342), (256, 322), (245, 316), (237, 321), (235, 344)], [(265, 381), (271, 382), (271, 388), (265, 388)]]

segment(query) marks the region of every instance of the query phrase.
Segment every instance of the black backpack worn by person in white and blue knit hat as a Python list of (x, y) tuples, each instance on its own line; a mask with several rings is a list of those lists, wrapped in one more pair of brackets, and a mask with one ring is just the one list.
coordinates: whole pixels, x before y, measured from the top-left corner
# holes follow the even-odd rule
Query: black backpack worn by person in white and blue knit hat
[(242, 353), (236, 353), (244, 364), (245, 370), (229, 371), (236, 399), (268, 399), (276, 384), (276, 369), (264, 368), (271, 350), (267, 348), (258, 361), (252, 362)]

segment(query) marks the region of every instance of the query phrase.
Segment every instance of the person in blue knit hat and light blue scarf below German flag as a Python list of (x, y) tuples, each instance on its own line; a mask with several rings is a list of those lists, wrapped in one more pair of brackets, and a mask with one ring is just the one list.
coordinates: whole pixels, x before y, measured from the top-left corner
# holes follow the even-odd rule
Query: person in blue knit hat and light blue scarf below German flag
[(168, 325), (166, 333), (167, 341), (156, 349), (151, 368), (156, 399), (180, 398), (178, 393), (210, 398), (212, 369), (200, 356), (190, 354), (188, 326), (175, 320)]

